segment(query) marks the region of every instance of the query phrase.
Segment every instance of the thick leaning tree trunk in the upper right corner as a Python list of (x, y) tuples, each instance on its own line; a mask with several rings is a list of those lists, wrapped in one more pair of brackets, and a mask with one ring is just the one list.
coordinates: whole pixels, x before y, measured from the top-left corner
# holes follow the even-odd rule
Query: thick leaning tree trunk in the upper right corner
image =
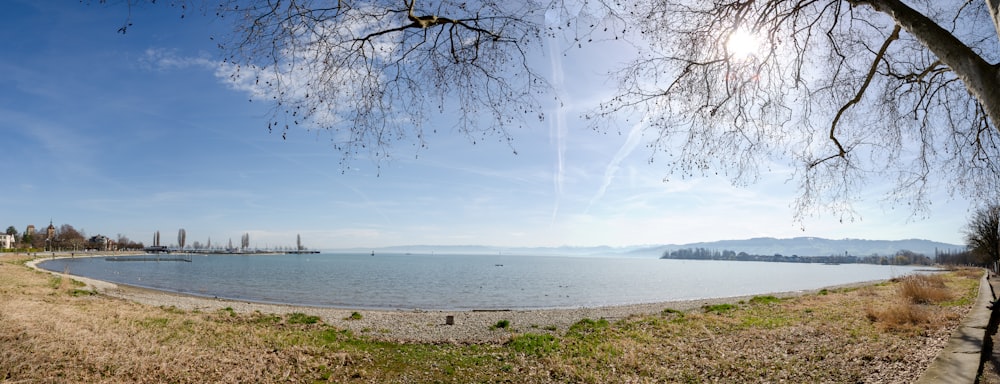
[[(941, 62), (950, 67), (962, 80), (965, 88), (979, 100), (989, 115), (993, 126), (1000, 129), (1000, 71), (997, 66), (986, 62), (961, 40), (948, 30), (941, 28), (933, 20), (917, 12), (900, 0), (849, 0), (854, 4), (867, 4), (878, 12), (892, 17), (906, 32), (917, 38), (927, 49), (934, 53)], [(1000, 34), (1000, 24), (997, 23), (1000, 12), (1000, 0), (986, 0), (993, 16), (994, 25)]]

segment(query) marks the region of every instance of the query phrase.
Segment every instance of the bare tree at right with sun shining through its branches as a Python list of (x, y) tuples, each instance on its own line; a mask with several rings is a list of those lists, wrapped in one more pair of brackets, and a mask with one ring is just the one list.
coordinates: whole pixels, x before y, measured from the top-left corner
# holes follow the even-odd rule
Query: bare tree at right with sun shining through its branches
[[(642, 116), (672, 177), (795, 170), (797, 212), (1000, 191), (995, 1), (643, 1), (649, 44), (594, 117)], [(992, 5), (988, 6), (987, 3)], [(991, 12), (993, 11), (993, 12)], [(995, 19), (994, 19), (995, 20)]]

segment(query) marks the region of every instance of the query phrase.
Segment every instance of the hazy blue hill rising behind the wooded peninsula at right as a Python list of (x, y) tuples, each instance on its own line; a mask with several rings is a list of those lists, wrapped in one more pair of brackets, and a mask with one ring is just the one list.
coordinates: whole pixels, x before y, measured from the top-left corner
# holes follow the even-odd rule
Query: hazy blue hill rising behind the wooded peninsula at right
[(820, 237), (795, 237), (791, 239), (776, 239), (773, 237), (758, 237), (746, 240), (722, 240), (681, 245), (662, 245), (635, 252), (643, 254), (662, 255), (664, 251), (685, 248), (705, 248), (718, 251), (746, 252), (751, 255), (784, 256), (889, 256), (901, 250), (912, 251), (933, 257), (935, 251), (961, 251), (964, 245), (940, 243), (930, 240), (863, 240), (842, 239), (831, 240)]

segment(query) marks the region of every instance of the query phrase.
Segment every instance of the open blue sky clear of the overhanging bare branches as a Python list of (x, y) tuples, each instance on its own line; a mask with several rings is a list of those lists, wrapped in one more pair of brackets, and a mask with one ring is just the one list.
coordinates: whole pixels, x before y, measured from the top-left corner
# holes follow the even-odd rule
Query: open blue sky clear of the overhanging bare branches
[[(269, 105), (217, 75), (209, 37), (226, 23), (76, 0), (4, 3), (0, 30), (0, 225), (51, 219), (88, 235), (147, 244), (160, 231), (258, 247), (301, 234), (317, 249), (391, 245), (592, 246), (750, 237), (924, 238), (961, 243), (968, 204), (943, 191), (930, 217), (879, 200), (859, 218), (793, 221), (796, 186), (780, 169), (746, 188), (723, 178), (663, 182), (641, 134), (579, 119), (612, 91), (615, 55), (540, 53), (564, 105), (506, 144), (439, 130), (430, 146), (394, 148), (342, 168), (323, 131), (267, 130)], [(604, 60), (597, 60), (603, 58)], [(590, 63), (584, 66), (581, 63)], [(884, 186), (888, 188), (889, 186)], [(164, 241), (166, 242), (166, 241)]]

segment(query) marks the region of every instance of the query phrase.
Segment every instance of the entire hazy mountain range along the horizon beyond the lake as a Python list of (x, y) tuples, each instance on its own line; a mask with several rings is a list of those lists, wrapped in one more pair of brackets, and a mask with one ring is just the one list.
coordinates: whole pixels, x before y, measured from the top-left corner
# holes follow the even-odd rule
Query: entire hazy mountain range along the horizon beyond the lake
[(784, 256), (890, 256), (901, 250), (934, 257), (935, 251), (962, 251), (964, 245), (941, 243), (922, 239), (907, 240), (831, 240), (820, 237), (795, 237), (776, 239), (758, 237), (746, 240), (721, 240), (712, 242), (641, 245), (630, 247), (494, 247), (480, 245), (412, 245), (382, 248), (336, 249), (334, 252), (412, 253), (412, 254), (472, 254), (472, 255), (537, 255), (537, 256), (629, 256), (660, 257), (665, 251), (704, 248), (712, 251), (746, 252), (751, 255)]

